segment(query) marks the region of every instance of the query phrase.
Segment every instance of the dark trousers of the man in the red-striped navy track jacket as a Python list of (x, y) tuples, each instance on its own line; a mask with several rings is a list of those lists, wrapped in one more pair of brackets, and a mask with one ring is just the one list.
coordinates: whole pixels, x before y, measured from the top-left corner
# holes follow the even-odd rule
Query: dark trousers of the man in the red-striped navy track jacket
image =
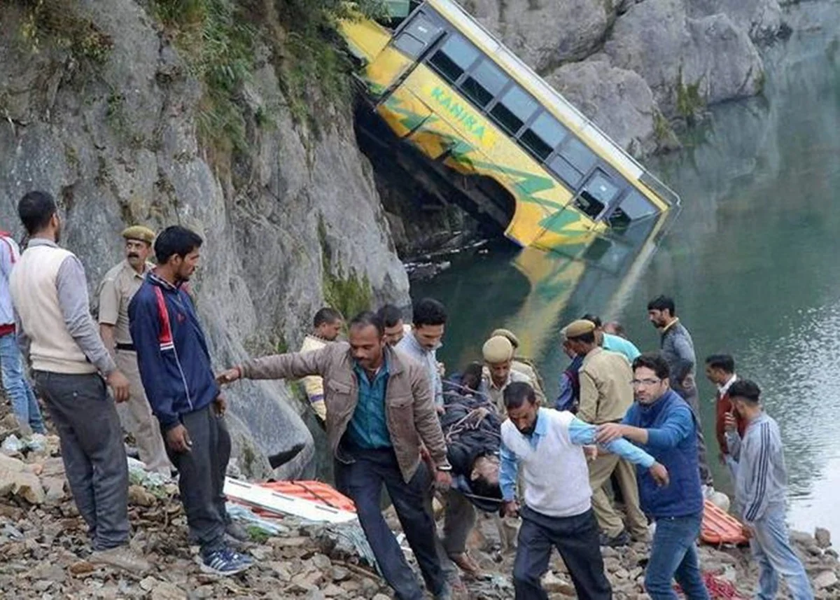
[(230, 434), (223, 417), (212, 405), (181, 415), (192, 440), (187, 452), (173, 452), (167, 445), (169, 460), (178, 470), (178, 490), (186, 513), (190, 539), (208, 555), (225, 547), (224, 529), (230, 522), (225, 508), (224, 476), (230, 461)]

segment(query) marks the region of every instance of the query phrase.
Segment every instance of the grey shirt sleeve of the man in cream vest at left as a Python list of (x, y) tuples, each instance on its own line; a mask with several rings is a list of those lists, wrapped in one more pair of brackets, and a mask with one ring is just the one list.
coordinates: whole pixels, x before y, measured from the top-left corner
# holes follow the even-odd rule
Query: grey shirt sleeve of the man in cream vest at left
[(58, 270), (55, 286), (64, 323), (81, 351), (103, 375), (117, 370), (93, 323), (87, 297), (85, 269), (76, 256), (68, 256)]

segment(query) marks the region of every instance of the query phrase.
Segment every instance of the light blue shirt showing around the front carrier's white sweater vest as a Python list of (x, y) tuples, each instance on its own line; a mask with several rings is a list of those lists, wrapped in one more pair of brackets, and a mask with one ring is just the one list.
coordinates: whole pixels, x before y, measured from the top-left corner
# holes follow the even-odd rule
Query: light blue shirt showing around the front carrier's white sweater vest
[[(549, 420), (546, 418), (537, 418), (537, 426), (533, 430), (533, 434), (528, 436), (528, 442), (531, 444), (533, 450), (537, 450), (539, 440), (545, 437), (548, 433)], [(595, 434), (598, 428), (596, 425), (584, 423), (580, 418), (573, 418), (569, 424), (569, 438), (572, 444), (575, 445), (591, 445), (595, 444)], [(635, 465), (640, 465), (645, 468), (650, 468), (654, 465), (654, 457), (647, 452), (631, 444), (626, 439), (616, 439), (609, 444), (600, 445), (601, 448), (621, 456), (627, 461)], [(517, 455), (513, 454), (504, 443), (501, 444), (501, 467), (499, 471), (499, 485), (501, 486), (501, 497), (509, 502), (513, 500), (516, 494), (517, 475), (519, 465), (517, 463)], [(559, 482), (562, 485), (563, 482)]]

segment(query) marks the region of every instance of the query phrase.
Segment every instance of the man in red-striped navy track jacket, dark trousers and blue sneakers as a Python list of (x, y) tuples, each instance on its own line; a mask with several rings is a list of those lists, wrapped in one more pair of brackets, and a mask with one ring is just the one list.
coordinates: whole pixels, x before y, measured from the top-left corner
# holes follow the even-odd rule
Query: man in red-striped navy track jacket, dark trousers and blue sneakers
[(158, 266), (129, 304), (129, 328), (146, 397), (179, 472), (190, 537), (202, 546), (202, 571), (233, 575), (251, 561), (225, 542), (226, 530), (234, 534), (223, 493), (230, 459), (225, 403), (202, 326), (181, 287), (196, 270), (201, 246), (198, 234), (180, 226), (158, 235)]

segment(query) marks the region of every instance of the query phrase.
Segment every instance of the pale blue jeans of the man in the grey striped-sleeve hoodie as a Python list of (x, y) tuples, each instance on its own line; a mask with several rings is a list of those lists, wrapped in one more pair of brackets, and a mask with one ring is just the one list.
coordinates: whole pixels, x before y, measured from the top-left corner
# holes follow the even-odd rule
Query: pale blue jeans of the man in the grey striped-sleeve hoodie
[(779, 576), (785, 577), (794, 600), (813, 600), (814, 592), (802, 561), (790, 548), (785, 509), (774, 508), (753, 523), (753, 539), (749, 548), (759, 563), (757, 600), (774, 600), (779, 590)]

